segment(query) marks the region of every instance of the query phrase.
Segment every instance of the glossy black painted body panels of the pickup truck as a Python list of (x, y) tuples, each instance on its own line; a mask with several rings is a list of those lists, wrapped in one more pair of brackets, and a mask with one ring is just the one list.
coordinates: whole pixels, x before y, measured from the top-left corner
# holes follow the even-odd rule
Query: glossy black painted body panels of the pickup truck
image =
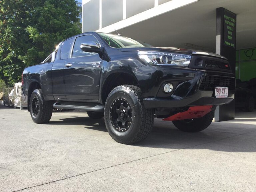
[[(93, 35), (101, 44), (100, 53), (71, 58), (75, 39), (82, 35)], [(136, 85), (141, 88), (145, 107), (172, 108), (193, 105), (221, 105), (231, 102), (234, 98), (234, 90), (232, 89), (229, 90), (228, 98), (214, 98), (213, 90), (199, 89), (205, 75), (234, 77), (230, 70), (206, 70), (204, 67), (195, 67), (193, 63), (190, 63), (188, 68), (148, 66), (142, 63), (137, 54), (140, 50), (171, 51), (191, 54), (191, 62), (196, 57), (203, 57), (228, 63), (224, 57), (214, 53), (200, 55), (200, 53), (194, 54), (194, 51), (191, 50), (178, 48), (113, 48), (96, 32), (87, 32), (71, 38), (73, 43), (67, 59), (60, 59), (61, 44), (54, 62), (24, 69), (23, 91), (26, 95), (31, 93), (31, 90), (29, 91), (31, 83), (37, 82), (42, 88), (45, 100), (104, 105), (102, 90), (109, 84), (106, 80), (111, 74), (123, 73), (134, 78)], [(65, 64), (68, 63), (72, 66), (65, 67)], [(171, 93), (163, 92), (164, 83), (167, 82), (174, 85)]]

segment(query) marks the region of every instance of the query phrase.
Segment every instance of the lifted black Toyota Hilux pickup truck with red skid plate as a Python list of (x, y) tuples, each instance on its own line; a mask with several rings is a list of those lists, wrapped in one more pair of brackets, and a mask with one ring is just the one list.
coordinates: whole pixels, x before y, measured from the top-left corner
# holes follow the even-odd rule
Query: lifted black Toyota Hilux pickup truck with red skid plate
[(97, 32), (61, 42), (42, 63), (24, 69), (22, 83), (35, 123), (47, 123), (53, 108), (84, 109), (91, 118), (104, 117), (110, 136), (124, 144), (145, 139), (155, 117), (201, 131), (235, 91), (225, 57)]

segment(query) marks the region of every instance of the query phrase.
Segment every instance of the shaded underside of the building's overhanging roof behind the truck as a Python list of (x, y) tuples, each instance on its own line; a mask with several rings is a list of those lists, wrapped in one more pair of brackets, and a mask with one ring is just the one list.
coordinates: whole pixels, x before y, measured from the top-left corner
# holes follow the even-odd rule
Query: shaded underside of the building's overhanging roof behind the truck
[(193, 44), (199, 46), (196, 49), (215, 52), (218, 7), (237, 14), (236, 48), (256, 47), (255, 0), (200, 0), (119, 29), (118, 32), (154, 46), (189, 48), (186, 45)]

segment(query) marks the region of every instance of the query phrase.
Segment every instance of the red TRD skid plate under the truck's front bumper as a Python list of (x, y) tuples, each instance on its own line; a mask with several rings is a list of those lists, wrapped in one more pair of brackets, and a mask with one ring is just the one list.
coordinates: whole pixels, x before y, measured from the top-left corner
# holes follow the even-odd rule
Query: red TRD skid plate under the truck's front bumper
[(183, 119), (194, 119), (205, 116), (212, 110), (212, 105), (193, 106), (189, 107), (187, 111), (177, 113), (170, 117), (163, 119), (163, 121), (176, 121)]

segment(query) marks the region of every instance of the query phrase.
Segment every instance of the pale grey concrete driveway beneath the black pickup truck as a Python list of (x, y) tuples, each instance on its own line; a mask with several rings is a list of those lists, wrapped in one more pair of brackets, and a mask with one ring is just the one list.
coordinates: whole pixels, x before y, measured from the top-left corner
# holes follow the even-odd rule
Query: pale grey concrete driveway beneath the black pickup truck
[(48, 124), (0, 106), (0, 191), (256, 190), (256, 112), (185, 133), (155, 119), (143, 142), (123, 145), (104, 120), (56, 112)]

